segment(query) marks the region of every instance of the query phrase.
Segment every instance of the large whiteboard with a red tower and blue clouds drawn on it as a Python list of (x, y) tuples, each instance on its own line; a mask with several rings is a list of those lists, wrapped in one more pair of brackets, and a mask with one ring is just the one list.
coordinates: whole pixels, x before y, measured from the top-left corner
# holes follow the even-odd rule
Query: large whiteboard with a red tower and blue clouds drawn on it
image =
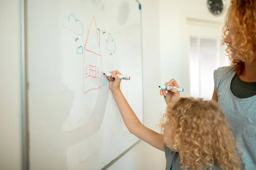
[(31, 170), (100, 170), (138, 141), (103, 72), (143, 122), (141, 16), (136, 0), (27, 0)]

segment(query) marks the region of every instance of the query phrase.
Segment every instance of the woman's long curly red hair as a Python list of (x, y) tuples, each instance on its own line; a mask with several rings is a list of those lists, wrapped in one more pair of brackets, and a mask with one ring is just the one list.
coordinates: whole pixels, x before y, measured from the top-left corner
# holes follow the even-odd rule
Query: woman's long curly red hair
[[(222, 45), (226, 44), (227, 56), (237, 74), (244, 70), (244, 62), (255, 63), (256, 59), (256, 1), (231, 0), (227, 9), (225, 24), (222, 29)], [(230, 45), (224, 42), (230, 28), (230, 38), (235, 56)]]

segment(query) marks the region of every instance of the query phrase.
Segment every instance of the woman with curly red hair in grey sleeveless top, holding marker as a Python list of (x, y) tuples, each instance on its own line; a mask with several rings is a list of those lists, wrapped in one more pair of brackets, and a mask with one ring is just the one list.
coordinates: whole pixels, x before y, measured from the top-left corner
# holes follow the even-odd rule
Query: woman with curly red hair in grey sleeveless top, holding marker
[[(218, 102), (242, 147), (245, 170), (256, 170), (256, 1), (231, 0), (223, 28), (231, 66), (214, 71), (212, 100)], [(167, 83), (166, 83), (167, 84)], [(175, 80), (169, 84), (178, 86)], [(167, 92), (167, 94), (166, 94)], [(160, 91), (166, 99), (173, 94)]]

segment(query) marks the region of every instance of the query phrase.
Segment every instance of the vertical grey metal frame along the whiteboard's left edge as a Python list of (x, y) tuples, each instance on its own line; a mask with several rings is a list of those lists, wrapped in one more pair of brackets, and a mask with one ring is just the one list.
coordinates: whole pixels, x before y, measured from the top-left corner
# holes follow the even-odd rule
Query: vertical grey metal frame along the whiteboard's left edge
[(21, 163), (29, 170), (28, 83), (26, 55), (26, 0), (20, 0), (20, 76), (21, 76)]

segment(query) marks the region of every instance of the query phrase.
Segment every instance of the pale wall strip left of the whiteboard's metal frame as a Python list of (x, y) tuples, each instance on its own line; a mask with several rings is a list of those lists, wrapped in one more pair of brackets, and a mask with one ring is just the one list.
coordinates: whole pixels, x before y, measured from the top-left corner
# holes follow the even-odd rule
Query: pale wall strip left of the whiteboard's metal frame
[(21, 169), (20, 86), (20, 1), (0, 0), (0, 170)]

